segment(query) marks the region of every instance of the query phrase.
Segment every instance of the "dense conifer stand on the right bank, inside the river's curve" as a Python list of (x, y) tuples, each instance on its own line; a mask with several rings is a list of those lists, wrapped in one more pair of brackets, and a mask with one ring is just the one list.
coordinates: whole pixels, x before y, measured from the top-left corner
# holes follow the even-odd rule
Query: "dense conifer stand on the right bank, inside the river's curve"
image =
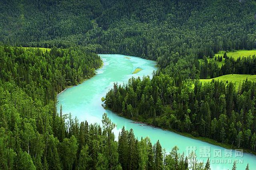
[(114, 84), (105, 104), (157, 127), (255, 150), (255, 87), (247, 79), (239, 89), (232, 82), (215, 80), (203, 85), (198, 80), (177, 83), (157, 72), (151, 80), (131, 78), (127, 85)]

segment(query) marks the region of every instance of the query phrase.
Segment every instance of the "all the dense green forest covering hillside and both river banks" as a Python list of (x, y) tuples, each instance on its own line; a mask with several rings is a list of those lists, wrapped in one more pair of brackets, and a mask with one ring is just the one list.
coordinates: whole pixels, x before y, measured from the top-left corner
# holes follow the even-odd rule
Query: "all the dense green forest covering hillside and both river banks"
[(256, 83), (198, 80), (256, 74), (255, 55), (228, 53), (256, 48), (255, 12), (255, 0), (1, 0), (0, 168), (210, 169), (132, 129), (114, 140), (106, 114), (101, 127), (57, 113), (56, 95), (102, 66), (96, 53), (158, 66), (152, 79), (114, 84), (108, 109), (255, 153)]

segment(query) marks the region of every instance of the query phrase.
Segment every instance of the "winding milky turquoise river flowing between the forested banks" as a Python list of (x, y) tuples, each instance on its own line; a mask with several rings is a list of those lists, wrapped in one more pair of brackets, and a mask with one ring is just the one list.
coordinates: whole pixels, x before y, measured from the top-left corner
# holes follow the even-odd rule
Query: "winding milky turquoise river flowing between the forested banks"
[[(149, 137), (152, 143), (159, 139), (166, 152), (170, 152), (172, 147), (178, 146), (180, 152), (186, 154), (189, 150), (196, 149), (197, 160), (206, 161), (206, 156), (210, 156), (212, 170), (231, 169), (234, 160), (237, 160), (237, 169), (244, 170), (249, 163), (250, 170), (256, 170), (256, 156), (250, 153), (243, 153), (232, 150), (225, 150), (222, 147), (211, 145), (199, 140), (190, 139), (178, 135), (171, 131), (154, 128), (147, 125), (136, 124), (130, 119), (120, 117), (102, 107), (101, 98), (112, 88), (114, 82), (127, 83), (132, 76), (149, 75), (156, 70), (154, 61), (124, 55), (100, 55), (104, 66), (98, 69), (96, 76), (86, 80), (78, 86), (68, 88), (58, 94), (58, 111), (62, 105), (63, 113), (71, 113), (72, 117), (77, 117), (80, 121), (87, 120), (89, 123), (101, 123), (102, 114), (106, 112), (108, 117), (117, 125), (114, 134), (117, 137), (122, 127), (132, 128), (134, 135)], [(136, 74), (132, 72), (136, 68), (142, 70)], [(205, 149), (205, 151), (203, 151)], [(210, 153), (208, 153), (210, 149)], [(226, 153), (226, 154), (225, 154)]]

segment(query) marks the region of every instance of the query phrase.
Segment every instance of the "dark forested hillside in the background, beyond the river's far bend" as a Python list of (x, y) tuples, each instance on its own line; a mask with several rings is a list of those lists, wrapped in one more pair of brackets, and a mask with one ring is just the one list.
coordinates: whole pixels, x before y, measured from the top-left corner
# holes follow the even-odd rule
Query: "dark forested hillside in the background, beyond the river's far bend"
[(160, 57), (160, 65), (166, 66), (164, 56), (172, 51), (200, 58), (256, 48), (255, 9), (250, 0), (4, 0), (0, 41), (33, 47), (86, 45), (99, 53)]

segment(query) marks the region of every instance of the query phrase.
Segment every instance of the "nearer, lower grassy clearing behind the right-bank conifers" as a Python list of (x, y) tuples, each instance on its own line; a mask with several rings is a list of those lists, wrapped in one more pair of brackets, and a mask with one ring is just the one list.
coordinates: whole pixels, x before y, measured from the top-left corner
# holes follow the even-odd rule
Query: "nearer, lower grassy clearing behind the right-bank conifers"
[(200, 82), (202, 82), (202, 84), (207, 83), (207, 82), (211, 82), (212, 79), (215, 80), (220, 80), (222, 82), (233, 82), (236, 83), (236, 87), (239, 86), (240, 83), (242, 83), (244, 80), (246, 80), (246, 78), (248, 80), (251, 81), (256, 81), (256, 75), (248, 75), (248, 74), (228, 74), (228, 75), (224, 75), (224, 76), (220, 76), (220, 77), (216, 77), (216, 78), (211, 78), (211, 79), (201, 79)]

